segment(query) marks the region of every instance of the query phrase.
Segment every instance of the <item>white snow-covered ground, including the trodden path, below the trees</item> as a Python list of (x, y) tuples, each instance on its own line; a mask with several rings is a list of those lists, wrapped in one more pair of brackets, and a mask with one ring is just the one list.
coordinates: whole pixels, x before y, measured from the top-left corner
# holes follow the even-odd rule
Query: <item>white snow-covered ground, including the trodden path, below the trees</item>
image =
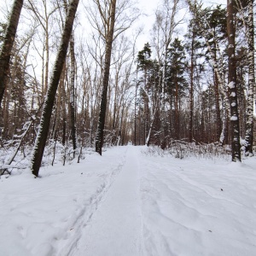
[(0, 180), (0, 255), (256, 255), (255, 166), (127, 146), (36, 179), (14, 171)]

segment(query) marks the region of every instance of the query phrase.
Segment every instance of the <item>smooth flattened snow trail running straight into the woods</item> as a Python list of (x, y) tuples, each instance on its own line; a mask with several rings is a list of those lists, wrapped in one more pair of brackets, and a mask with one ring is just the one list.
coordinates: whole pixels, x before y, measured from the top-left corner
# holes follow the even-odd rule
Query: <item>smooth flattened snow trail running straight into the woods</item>
[(141, 255), (139, 150), (129, 146), (125, 164), (85, 224), (69, 255)]

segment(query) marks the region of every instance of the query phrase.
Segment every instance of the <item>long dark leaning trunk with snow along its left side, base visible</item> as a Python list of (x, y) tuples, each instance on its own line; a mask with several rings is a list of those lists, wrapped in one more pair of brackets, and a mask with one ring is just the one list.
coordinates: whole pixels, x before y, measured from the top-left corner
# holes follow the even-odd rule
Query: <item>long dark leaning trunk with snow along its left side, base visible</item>
[(61, 45), (56, 56), (53, 73), (49, 82), (49, 87), (44, 102), (44, 110), (42, 113), (38, 136), (32, 152), (32, 174), (38, 177), (39, 168), (41, 166), (44, 147), (49, 132), (49, 122), (52, 113), (52, 108), (55, 102), (55, 94), (61, 78), (61, 71), (66, 60), (67, 47), (73, 29), (73, 20), (79, 5), (79, 0), (73, 0), (69, 4), (67, 18), (65, 21), (64, 31), (62, 32)]

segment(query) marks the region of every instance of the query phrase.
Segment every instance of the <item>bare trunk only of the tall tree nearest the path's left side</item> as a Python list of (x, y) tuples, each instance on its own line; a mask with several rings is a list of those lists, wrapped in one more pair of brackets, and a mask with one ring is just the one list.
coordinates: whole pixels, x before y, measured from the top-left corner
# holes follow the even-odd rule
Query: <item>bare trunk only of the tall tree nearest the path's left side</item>
[(99, 121), (96, 131), (96, 152), (102, 155), (102, 145), (103, 145), (103, 131), (105, 126), (105, 117), (107, 110), (107, 97), (108, 97), (108, 79), (109, 79), (109, 69), (111, 61), (111, 51), (113, 43), (113, 28), (115, 21), (115, 6), (116, 0), (111, 1), (111, 14), (110, 14), (110, 24), (108, 24), (109, 31), (106, 38), (106, 53), (105, 53), (105, 65), (103, 73), (103, 88), (102, 88), (102, 101), (100, 108)]

